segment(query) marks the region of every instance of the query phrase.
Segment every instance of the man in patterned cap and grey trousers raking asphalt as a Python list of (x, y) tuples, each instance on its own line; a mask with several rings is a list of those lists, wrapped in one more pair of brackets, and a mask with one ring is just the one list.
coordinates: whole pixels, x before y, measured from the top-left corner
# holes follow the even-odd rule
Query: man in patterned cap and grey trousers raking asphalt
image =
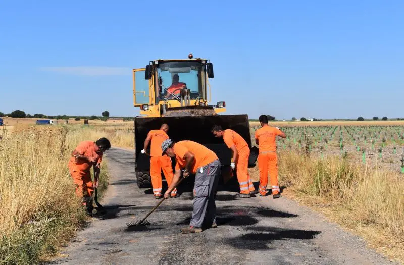
[(168, 198), (171, 190), (177, 186), (181, 169), (184, 170), (184, 178), (190, 173), (195, 174), (192, 219), (189, 226), (181, 228), (181, 233), (202, 232), (204, 220), (205, 225), (217, 227), (215, 197), (221, 173), (219, 158), (210, 149), (193, 141), (174, 143), (168, 139), (163, 142), (161, 149), (163, 154), (175, 157), (177, 161), (174, 178), (164, 194), (165, 198)]

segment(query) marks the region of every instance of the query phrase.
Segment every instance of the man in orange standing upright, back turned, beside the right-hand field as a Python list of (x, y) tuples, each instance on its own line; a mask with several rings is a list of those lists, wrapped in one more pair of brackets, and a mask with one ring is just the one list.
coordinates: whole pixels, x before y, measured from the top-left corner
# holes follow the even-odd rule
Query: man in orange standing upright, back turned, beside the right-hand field
[(259, 117), (260, 129), (255, 132), (256, 144), (259, 145), (258, 168), (260, 170), (260, 196), (267, 195), (268, 173), (272, 186), (272, 196), (274, 199), (281, 197), (278, 185), (278, 157), (276, 155), (276, 136), (282, 138), (286, 134), (278, 127), (268, 125), (268, 116)]

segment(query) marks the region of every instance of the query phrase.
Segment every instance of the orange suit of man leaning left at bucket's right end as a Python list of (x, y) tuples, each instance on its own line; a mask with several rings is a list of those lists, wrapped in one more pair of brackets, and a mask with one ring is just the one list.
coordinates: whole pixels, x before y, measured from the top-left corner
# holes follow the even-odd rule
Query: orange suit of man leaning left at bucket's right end
[(255, 191), (248, 174), (248, 157), (250, 151), (247, 142), (241, 135), (230, 129), (224, 130), (223, 140), (229, 148), (235, 145), (238, 152), (236, 173), (238, 183), (240, 184), (240, 193), (249, 194), (251, 191)]

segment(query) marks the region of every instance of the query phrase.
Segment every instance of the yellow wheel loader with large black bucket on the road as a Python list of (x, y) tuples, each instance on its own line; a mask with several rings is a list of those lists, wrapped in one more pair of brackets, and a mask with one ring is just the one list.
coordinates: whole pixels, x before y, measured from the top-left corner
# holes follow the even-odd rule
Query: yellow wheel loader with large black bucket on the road
[(248, 115), (219, 115), (226, 111), (226, 103), (211, 104), (209, 78), (213, 76), (210, 60), (193, 58), (192, 54), (188, 59), (158, 59), (150, 61), (145, 68), (133, 69), (133, 102), (135, 107), (140, 107), (140, 116), (134, 119), (135, 173), (139, 188), (151, 187), (150, 157), (140, 153), (144, 140), (150, 130), (159, 129), (163, 123), (169, 125), (168, 135), (173, 141), (195, 141), (217, 154), (222, 164), (222, 183), (235, 179), (230, 167), (231, 150), (223, 139), (211, 133), (211, 128), (218, 124), (232, 129), (251, 148)]

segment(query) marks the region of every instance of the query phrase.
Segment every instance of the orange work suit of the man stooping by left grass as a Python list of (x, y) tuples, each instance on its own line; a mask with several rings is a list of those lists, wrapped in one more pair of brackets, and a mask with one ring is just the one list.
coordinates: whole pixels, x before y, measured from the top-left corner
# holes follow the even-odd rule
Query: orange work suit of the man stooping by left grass
[[(95, 152), (93, 141), (81, 142), (75, 150), (80, 155), (93, 157), (97, 165), (101, 163), (101, 160), (103, 158), (102, 154), (98, 155)], [(90, 173), (91, 166), (91, 163), (76, 159), (74, 156), (72, 156), (69, 160), (69, 172), (73, 178), (74, 183), (77, 185), (76, 194), (79, 197), (91, 197), (92, 192), (94, 191)]]

